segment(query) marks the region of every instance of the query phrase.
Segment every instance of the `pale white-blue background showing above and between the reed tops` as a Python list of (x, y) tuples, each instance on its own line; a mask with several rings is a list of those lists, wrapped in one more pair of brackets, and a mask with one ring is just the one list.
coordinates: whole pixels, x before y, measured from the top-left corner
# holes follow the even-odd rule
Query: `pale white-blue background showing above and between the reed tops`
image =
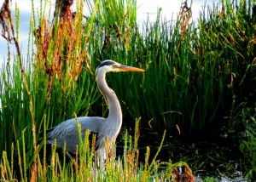
[[(2, 7), (4, 0), (0, 0), (0, 6)], [(199, 12), (202, 10), (204, 5), (212, 5), (218, 3), (220, 0), (193, 0), (192, 4), (192, 17), (193, 20), (197, 20)], [(15, 3), (18, 3), (20, 9), (20, 45), (21, 54), (27, 53), (27, 41), (28, 41), (28, 28), (31, 17), (32, 4), (31, 0), (12, 0), (11, 9), (13, 14), (15, 13)], [(52, 0), (54, 2), (54, 0)], [(74, 1), (75, 2), (75, 1)], [(173, 17), (177, 17), (177, 14), (181, 7), (181, 0), (137, 0), (137, 22), (143, 23), (144, 20), (149, 18), (150, 21), (154, 22), (157, 16), (157, 10), (161, 8), (161, 15), (166, 20), (172, 20)], [(39, 7), (40, 0), (34, 0), (35, 7)], [(188, 0), (190, 3), (190, 0)], [(51, 11), (54, 10), (52, 6)], [(73, 10), (75, 8), (73, 7)], [(86, 13), (84, 13), (86, 14)], [(15, 17), (15, 16), (14, 16)], [(0, 32), (2, 32), (2, 26), (0, 26)], [(15, 51), (15, 45), (11, 44), (11, 51)], [(0, 36), (0, 63), (7, 59), (7, 42)]]

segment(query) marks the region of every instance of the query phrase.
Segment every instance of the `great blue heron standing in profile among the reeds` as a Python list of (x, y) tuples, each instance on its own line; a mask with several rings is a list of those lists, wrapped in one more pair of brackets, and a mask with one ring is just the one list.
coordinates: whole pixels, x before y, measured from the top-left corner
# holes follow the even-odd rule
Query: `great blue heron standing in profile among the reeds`
[[(96, 134), (96, 151), (98, 155), (105, 155), (104, 142), (115, 142), (122, 125), (122, 110), (116, 94), (108, 87), (106, 82), (107, 72), (117, 71), (144, 71), (143, 69), (120, 65), (113, 60), (103, 61), (96, 69), (96, 82), (102, 95), (108, 100), (108, 117), (78, 117), (81, 125), (81, 135), (84, 139), (84, 133), (88, 129), (91, 133)], [(67, 152), (75, 154), (77, 145), (79, 145), (79, 132), (76, 118), (61, 122), (54, 128), (47, 130), (47, 144), (54, 144), (58, 147), (64, 147), (66, 143)]]

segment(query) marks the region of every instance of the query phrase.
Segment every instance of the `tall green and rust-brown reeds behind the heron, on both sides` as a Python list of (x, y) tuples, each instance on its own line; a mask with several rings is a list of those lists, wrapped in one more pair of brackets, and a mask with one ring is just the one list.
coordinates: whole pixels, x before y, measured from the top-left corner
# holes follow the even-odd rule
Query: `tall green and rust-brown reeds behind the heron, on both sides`
[[(250, 1), (225, 1), (223, 9), (207, 9), (198, 25), (189, 23), (187, 4), (174, 24), (161, 21), (159, 10), (156, 22), (146, 22), (142, 32), (134, 0), (95, 1), (93, 5), (78, 1), (74, 18), (60, 1), (49, 10), (55, 12), (53, 21), (46, 14), (46, 4), (41, 3), (39, 14), (32, 6), (28, 65), (20, 66), (25, 58), (18, 48), (13, 70), (9, 73), (3, 68), (0, 81), (4, 139), (0, 153), (12, 156), (12, 144), (26, 144), (22, 148), (26, 168), (38, 161), (32, 156), (38, 153), (38, 139), (39, 145), (44, 143), (39, 136), (44, 126), (55, 126), (73, 117), (73, 112), (106, 116), (107, 103), (96, 90), (94, 73), (100, 60), (146, 69), (143, 77), (108, 75), (124, 120), (142, 117), (146, 126), (178, 128), (182, 133), (204, 131), (223, 117), (234, 116), (236, 105), (253, 95), (255, 17)], [(84, 4), (91, 9), (87, 20)], [(249, 98), (247, 103), (253, 105), (254, 97)], [(14, 157), (19, 158), (19, 150), (15, 149)]]

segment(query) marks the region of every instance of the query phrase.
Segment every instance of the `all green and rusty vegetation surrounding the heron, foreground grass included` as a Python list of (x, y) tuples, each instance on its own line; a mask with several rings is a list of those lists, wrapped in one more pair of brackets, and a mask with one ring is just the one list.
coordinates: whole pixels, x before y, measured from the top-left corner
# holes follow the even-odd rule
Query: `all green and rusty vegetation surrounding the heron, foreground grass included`
[[(57, 0), (54, 9), (46, 9), (48, 1), (39, 9), (33, 4), (26, 57), (20, 54), (19, 7), (12, 17), (5, 0), (0, 12), (1, 35), (16, 48), (15, 55), (7, 53), (0, 77), (0, 180), (193, 181), (196, 171), (212, 168), (213, 178), (202, 180), (234, 178), (236, 171), (256, 179), (255, 1), (204, 7), (197, 24), (191, 22), (193, 3), (184, 1), (175, 23), (162, 20), (159, 9), (142, 32), (136, 0), (77, 0), (76, 12), (73, 1)], [(52, 20), (46, 12), (54, 12)], [(123, 108), (122, 155), (112, 151), (102, 166), (88, 135), (73, 160), (65, 150), (48, 149), (47, 128), (71, 117), (108, 114), (95, 82), (97, 65), (108, 59), (146, 70), (143, 77), (108, 75)], [(139, 142), (147, 136), (140, 128), (157, 133), (151, 143)], [(201, 153), (198, 138), (224, 145)], [(185, 147), (167, 145), (182, 139), (191, 140)], [(168, 147), (173, 151), (163, 154)], [(232, 156), (237, 160), (230, 162)]]

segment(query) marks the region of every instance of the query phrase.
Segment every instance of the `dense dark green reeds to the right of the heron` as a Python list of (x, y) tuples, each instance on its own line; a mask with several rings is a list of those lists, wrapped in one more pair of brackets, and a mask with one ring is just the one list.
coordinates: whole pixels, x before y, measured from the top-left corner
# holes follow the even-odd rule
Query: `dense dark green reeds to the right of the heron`
[[(158, 16), (153, 25), (148, 22), (143, 34), (135, 28), (129, 48), (111, 37), (106, 54), (147, 69), (143, 82), (125, 74), (112, 81), (120, 100), (125, 100), (124, 107), (134, 105), (128, 108), (131, 117), (143, 116), (152, 127), (203, 132), (231, 118), (234, 102), (239, 105), (245, 95), (253, 95), (255, 87), (248, 88), (255, 85), (254, 26), (248, 14), (253, 5), (226, 1), (223, 9), (202, 13), (198, 24), (189, 23), (191, 12), (186, 6), (181, 7), (176, 24)], [(123, 82), (126, 77), (133, 82)]]

